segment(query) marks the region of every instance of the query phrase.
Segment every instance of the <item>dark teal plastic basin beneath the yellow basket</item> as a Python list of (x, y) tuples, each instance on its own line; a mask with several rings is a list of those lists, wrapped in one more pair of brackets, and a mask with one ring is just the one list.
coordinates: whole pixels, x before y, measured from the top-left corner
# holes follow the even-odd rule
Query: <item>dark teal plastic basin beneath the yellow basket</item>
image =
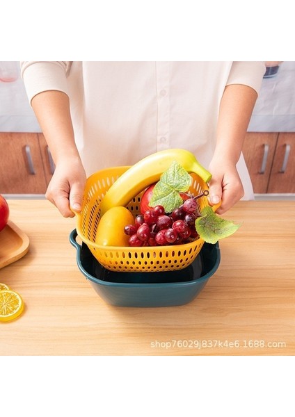
[(194, 300), (216, 272), (220, 260), (218, 243), (205, 243), (188, 267), (168, 272), (112, 272), (91, 254), (85, 243), (77, 243), (77, 231), (70, 243), (77, 249), (77, 265), (106, 303), (127, 307), (180, 306)]

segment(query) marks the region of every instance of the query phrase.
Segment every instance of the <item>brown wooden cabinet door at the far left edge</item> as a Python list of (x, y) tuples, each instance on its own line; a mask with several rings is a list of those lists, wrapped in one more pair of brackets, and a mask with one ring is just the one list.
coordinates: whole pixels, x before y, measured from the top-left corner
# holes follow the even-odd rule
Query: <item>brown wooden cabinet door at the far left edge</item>
[(0, 133), (0, 193), (44, 194), (38, 133)]

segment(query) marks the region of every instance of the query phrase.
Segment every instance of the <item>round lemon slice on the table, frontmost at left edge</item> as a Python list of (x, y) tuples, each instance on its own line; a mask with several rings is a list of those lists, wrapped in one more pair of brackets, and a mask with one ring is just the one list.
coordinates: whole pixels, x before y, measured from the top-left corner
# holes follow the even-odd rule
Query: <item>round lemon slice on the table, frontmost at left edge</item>
[(0, 321), (14, 320), (24, 310), (24, 301), (15, 291), (0, 291)]

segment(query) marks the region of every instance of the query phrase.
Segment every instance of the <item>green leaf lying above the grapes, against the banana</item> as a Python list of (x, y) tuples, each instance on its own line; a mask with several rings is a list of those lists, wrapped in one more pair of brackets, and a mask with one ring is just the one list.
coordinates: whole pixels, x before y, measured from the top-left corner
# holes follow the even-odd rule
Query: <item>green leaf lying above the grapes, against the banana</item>
[(179, 193), (185, 193), (191, 186), (191, 176), (177, 161), (173, 161), (152, 190), (151, 207), (161, 204), (166, 213), (171, 213), (182, 204)]

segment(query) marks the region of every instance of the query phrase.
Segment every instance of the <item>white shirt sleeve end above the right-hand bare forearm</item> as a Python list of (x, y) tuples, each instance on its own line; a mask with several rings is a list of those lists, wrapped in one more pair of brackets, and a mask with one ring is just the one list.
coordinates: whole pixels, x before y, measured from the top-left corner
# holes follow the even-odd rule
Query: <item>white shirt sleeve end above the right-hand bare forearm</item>
[(265, 63), (262, 61), (234, 61), (226, 85), (248, 85), (258, 94), (264, 73)]

